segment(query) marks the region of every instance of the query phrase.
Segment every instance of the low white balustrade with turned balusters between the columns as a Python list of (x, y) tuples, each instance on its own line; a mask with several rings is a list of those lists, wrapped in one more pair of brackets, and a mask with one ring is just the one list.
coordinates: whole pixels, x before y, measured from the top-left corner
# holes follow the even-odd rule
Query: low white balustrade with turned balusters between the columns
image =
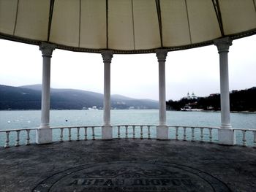
[[(113, 128), (117, 128), (117, 135), (116, 137), (114, 136), (114, 138), (151, 139), (152, 138), (151, 128), (156, 128), (156, 127), (157, 126), (152, 126), (152, 125), (113, 126)], [(96, 131), (95, 128), (101, 129), (102, 126), (53, 127), (52, 129), (59, 129), (60, 131), (59, 142), (64, 142), (64, 137), (67, 138), (67, 141), (72, 141), (72, 139), (80, 141), (80, 139), (87, 140), (88, 138), (95, 140), (96, 139), (95, 133), (100, 132), (98, 129), (97, 129), (98, 131), (95, 132)], [(176, 140), (181, 139), (184, 141), (192, 141), (192, 142), (195, 142), (195, 141), (218, 142), (217, 132), (213, 133), (214, 130), (218, 131), (219, 129), (218, 127), (168, 126), (168, 128), (170, 132), (170, 139), (176, 139)], [(91, 130), (89, 130), (88, 132), (88, 129), (91, 129)], [(23, 145), (24, 145), (24, 141), (25, 141), (25, 145), (30, 145), (31, 130), (37, 130), (37, 128), (23, 128), (23, 129), (12, 129), (12, 130), (0, 131), (0, 134), (5, 134), (4, 147), (10, 147), (10, 146), (18, 147), (20, 146), (20, 141), (21, 141), (21, 145), (22, 145), (22, 141), (23, 141)], [(67, 132), (65, 132), (64, 130), (67, 130)], [(129, 133), (129, 130), (131, 130), (132, 133)], [(238, 143), (238, 145), (242, 145), (244, 147), (247, 145), (256, 147), (256, 130), (255, 129), (233, 128), (233, 130), (236, 131), (237, 133), (236, 143)], [(80, 138), (80, 131), (82, 132), (84, 131), (84, 138)], [(13, 134), (11, 134), (12, 132)], [(89, 136), (88, 136), (88, 133), (90, 133)], [(72, 134), (76, 134), (76, 137), (72, 138)], [(147, 137), (145, 137), (144, 134), (147, 134)], [(157, 139), (155, 134), (153, 135), (153, 139)]]

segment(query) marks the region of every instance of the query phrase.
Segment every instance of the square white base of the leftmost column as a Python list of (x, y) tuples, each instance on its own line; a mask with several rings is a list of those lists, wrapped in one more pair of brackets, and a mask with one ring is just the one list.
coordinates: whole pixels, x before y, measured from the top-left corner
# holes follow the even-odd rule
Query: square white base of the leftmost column
[(53, 142), (53, 131), (50, 126), (40, 126), (37, 129), (37, 144), (47, 144)]

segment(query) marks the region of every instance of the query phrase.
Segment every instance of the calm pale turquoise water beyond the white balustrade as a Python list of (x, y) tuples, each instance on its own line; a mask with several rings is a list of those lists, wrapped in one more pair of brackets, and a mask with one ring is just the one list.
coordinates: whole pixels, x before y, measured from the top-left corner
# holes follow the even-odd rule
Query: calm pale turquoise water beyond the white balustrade
[[(0, 130), (13, 128), (35, 128), (40, 124), (40, 111), (0, 111)], [(158, 110), (112, 110), (111, 124), (143, 124), (157, 125)], [(102, 110), (52, 110), (50, 111), (50, 126), (100, 126), (102, 125)], [(256, 129), (256, 114), (231, 113), (233, 128)], [(167, 111), (167, 124), (170, 126), (219, 126), (220, 112), (173, 112)], [(99, 136), (100, 133), (96, 133)], [(154, 135), (154, 130), (152, 135)], [(214, 132), (217, 139), (217, 133)], [(182, 135), (182, 134), (181, 134)], [(189, 132), (188, 132), (189, 135)], [(252, 135), (252, 134), (251, 134)], [(10, 137), (15, 137), (11, 135)], [(59, 137), (53, 135), (53, 137)], [(238, 134), (238, 137), (241, 137)], [(241, 139), (241, 138), (240, 138)], [(252, 141), (252, 136), (248, 136)], [(0, 134), (0, 145), (4, 144), (5, 134)], [(31, 133), (34, 142), (34, 133)]]

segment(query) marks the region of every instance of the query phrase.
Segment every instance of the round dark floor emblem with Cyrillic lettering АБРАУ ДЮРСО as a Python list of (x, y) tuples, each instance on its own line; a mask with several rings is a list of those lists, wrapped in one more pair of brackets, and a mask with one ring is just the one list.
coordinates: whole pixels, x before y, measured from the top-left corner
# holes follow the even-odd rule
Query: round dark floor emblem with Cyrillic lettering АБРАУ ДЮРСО
[(87, 164), (39, 183), (34, 192), (45, 191), (230, 191), (212, 177), (188, 166), (159, 162), (116, 161)]

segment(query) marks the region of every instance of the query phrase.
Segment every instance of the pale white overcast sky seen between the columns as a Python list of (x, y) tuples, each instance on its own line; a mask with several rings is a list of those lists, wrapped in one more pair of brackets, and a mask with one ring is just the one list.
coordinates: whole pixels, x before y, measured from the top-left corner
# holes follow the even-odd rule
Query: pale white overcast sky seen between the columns
[[(42, 54), (38, 46), (0, 39), (0, 84), (42, 82)], [(256, 35), (233, 41), (229, 53), (230, 90), (256, 86)], [(74, 88), (103, 93), (102, 56), (54, 50), (52, 88)], [(166, 99), (219, 93), (219, 54), (214, 45), (169, 52), (166, 61)], [(113, 55), (111, 94), (158, 99), (158, 63), (155, 54)]]

